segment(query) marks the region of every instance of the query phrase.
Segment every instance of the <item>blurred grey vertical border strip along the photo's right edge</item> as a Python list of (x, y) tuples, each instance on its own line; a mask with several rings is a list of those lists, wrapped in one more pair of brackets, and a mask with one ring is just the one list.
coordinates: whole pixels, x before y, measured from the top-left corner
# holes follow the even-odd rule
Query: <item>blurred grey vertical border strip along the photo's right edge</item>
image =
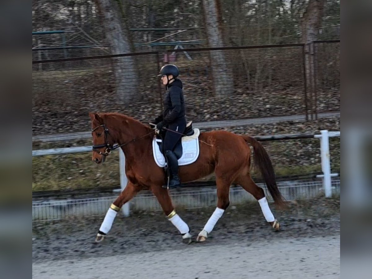
[[(340, 254), (344, 278), (369, 278), (372, 259), (372, 1), (341, 3), (341, 220)], [(349, 157), (359, 138), (364, 170), (355, 173)], [(367, 159), (367, 160), (366, 160)], [(362, 173), (362, 175), (360, 175)], [(362, 177), (361, 177), (362, 176)], [(363, 183), (359, 182), (362, 181)], [(354, 198), (360, 190), (358, 198)], [(362, 200), (363, 199), (363, 200)], [(368, 264), (369, 262), (369, 264)]]

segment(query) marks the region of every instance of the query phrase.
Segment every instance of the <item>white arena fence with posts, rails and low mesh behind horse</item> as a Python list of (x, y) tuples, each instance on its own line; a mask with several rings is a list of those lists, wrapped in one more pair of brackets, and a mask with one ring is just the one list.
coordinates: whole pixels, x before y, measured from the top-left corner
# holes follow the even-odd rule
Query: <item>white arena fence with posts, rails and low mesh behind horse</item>
[[(338, 176), (337, 173), (331, 173), (330, 164), (330, 151), (329, 151), (329, 138), (340, 137), (340, 132), (328, 132), (327, 130), (321, 131), (320, 135), (313, 134), (289, 134), (289, 135), (275, 135), (275, 136), (261, 136), (256, 137), (260, 141), (270, 140), (284, 140), (284, 139), (296, 139), (296, 138), (319, 138), (320, 139), (320, 150), (321, 150), (321, 170), (323, 174), (317, 175), (317, 178), (322, 178), (322, 182), (279, 182), (280, 191), (285, 199), (301, 199), (301, 198), (313, 198), (320, 192), (324, 192), (327, 198), (332, 196), (332, 182), (331, 177)], [(64, 153), (80, 153), (89, 152), (92, 147), (71, 147), (71, 148), (56, 148), (50, 150), (33, 150), (32, 156), (44, 156), (51, 154), (64, 154)], [(128, 182), (125, 176), (125, 155), (122, 150), (119, 150), (119, 172), (121, 190), (126, 187)], [(315, 183), (315, 184), (314, 184)], [(292, 184), (292, 185), (291, 185)], [(266, 187), (262, 185), (266, 191)], [(295, 190), (294, 190), (295, 188)], [(238, 190), (237, 190), (238, 189)], [(240, 189), (240, 190), (239, 190)], [(212, 192), (211, 192), (212, 191)], [(238, 192), (234, 192), (238, 191)], [(240, 191), (240, 192), (239, 192)], [(337, 192), (339, 193), (339, 192)], [(236, 194), (236, 195), (235, 195)], [(267, 195), (267, 193), (266, 193)], [(216, 203), (216, 192), (215, 189), (201, 189), (192, 191), (182, 191), (180, 193), (173, 193), (174, 202), (179, 206), (187, 208), (212, 206)], [(234, 202), (236, 199), (237, 203), (244, 202), (252, 197), (247, 192), (243, 192), (241, 187), (233, 187), (230, 190), (231, 201)], [(249, 197), (250, 196), (250, 197)], [(99, 197), (93, 199), (74, 199), (70, 201), (47, 201), (47, 202), (33, 202), (33, 220), (45, 220), (64, 218), (67, 215), (94, 215), (101, 212), (103, 208), (109, 206), (109, 201), (112, 202), (113, 197)], [(134, 205), (133, 205), (134, 203)], [(138, 195), (134, 202), (130, 202), (132, 208), (135, 209), (158, 209), (159, 205), (153, 194)], [(122, 208), (124, 215), (129, 215), (129, 202), (125, 203)], [(101, 212), (102, 213), (102, 212)], [(99, 213), (99, 214), (101, 214)]]

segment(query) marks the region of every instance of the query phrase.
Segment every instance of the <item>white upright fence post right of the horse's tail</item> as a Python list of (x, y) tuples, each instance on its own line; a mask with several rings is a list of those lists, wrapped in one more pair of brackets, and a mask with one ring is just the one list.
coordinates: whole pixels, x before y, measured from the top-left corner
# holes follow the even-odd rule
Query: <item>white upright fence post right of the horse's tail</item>
[(320, 138), (320, 156), (321, 165), (323, 172), (323, 188), (326, 198), (331, 198), (332, 188), (331, 188), (331, 163), (329, 154), (329, 135), (328, 130), (321, 131)]

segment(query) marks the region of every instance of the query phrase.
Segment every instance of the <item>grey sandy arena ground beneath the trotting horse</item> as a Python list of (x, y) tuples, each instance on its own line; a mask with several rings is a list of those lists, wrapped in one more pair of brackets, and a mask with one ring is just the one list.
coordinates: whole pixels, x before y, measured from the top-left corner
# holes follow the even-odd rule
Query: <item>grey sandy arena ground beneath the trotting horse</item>
[[(323, 198), (276, 211), (231, 206), (205, 243), (183, 244), (161, 212), (118, 216), (94, 244), (100, 218), (33, 224), (33, 278), (340, 278), (340, 201)], [(214, 208), (179, 210), (196, 236)]]

